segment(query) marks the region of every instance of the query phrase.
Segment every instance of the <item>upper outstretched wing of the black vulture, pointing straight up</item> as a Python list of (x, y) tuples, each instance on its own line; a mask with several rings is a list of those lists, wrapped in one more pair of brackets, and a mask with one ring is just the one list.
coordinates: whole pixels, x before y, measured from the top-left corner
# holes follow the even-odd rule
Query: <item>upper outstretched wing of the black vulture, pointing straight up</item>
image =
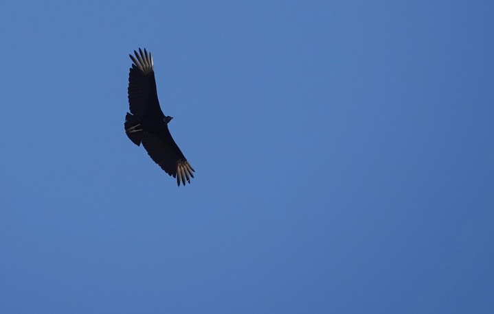
[(134, 53), (135, 57), (128, 55), (133, 62), (128, 73), (128, 104), (131, 113), (139, 119), (152, 114), (164, 117), (156, 91), (153, 57), (146, 49), (144, 53), (140, 48), (139, 53), (135, 50)]

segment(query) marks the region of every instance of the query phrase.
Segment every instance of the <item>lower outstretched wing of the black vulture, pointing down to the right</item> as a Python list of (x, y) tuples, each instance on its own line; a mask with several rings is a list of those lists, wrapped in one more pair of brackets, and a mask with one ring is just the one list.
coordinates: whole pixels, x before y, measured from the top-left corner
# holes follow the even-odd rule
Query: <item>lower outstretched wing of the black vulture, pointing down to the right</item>
[[(168, 130), (167, 130), (168, 132)], [(168, 141), (151, 132), (144, 132), (142, 136), (142, 145), (148, 152), (148, 155), (156, 162), (161, 169), (168, 175), (177, 178), (177, 184), (180, 182), (186, 185), (190, 183), (190, 177), (194, 178), (194, 168), (192, 168), (186, 158), (183, 156), (179, 147), (173, 141), (170, 132), (166, 135)]]

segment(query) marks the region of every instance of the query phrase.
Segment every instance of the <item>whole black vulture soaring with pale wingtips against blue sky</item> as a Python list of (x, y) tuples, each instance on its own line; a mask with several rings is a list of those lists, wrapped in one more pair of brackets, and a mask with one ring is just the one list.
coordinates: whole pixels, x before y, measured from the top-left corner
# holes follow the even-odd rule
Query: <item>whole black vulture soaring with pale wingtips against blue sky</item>
[(131, 112), (125, 116), (125, 134), (137, 146), (142, 145), (148, 155), (168, 175), (177, 178), (185, 186), (194, 178), (192, 168), (173, 141), (168, 123), (173, 119), (163, 114), (156, 91), (155, 70), (151, 53), (139, 48), (128, 73), (128, 106)]

